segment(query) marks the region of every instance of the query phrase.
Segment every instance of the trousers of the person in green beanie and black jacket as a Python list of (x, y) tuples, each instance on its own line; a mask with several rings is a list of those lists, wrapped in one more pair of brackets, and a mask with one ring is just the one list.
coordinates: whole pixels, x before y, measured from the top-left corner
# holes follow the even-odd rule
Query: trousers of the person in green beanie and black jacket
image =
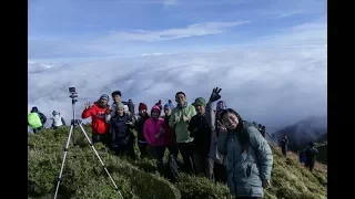
[(214, 160), (210, 158), (209, 155), (201, 155), (196, 153), (194, 153), (193, 157), (196, 166), (196, 175), (203, 174), (206, 178), (213, 180)]

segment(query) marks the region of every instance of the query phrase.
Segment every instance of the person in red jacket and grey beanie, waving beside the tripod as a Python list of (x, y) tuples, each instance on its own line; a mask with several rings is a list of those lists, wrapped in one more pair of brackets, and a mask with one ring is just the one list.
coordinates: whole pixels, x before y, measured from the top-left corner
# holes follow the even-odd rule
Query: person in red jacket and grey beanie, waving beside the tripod
[(109, 145), (109, 128), (110, 125), (105, 121), (105, 113), (110, 108), (108, 105), (109, 95), (103, 94), (92, 106), (90, 103), (85, 103), (85, 109), (82, 112), (81, 117), (83, 119), (91, 117), (92, 128), (92, 143), (101, 142), (104, 145)]

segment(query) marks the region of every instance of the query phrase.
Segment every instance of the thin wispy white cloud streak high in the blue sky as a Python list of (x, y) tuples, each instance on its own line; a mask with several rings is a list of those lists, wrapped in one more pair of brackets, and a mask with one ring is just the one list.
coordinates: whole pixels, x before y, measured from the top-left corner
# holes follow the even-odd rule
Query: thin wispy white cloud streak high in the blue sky
[(181, 38), (221, 34), (227, 28), (233, 28), (233, 27), (245, 24), (245, 23), (250, 23), (250, 21), (196, 23), (182, 29), (169, 29), (169, 30), (162, 30), (162, 31), (136, 30), (136, 31), (112, 32), (111, 35), (104, 38), (103, 40), (108, 40), (111, 42), (112, 41), (153, 42), (153, 41), (162, 41), (162, 40), (176, 40)]

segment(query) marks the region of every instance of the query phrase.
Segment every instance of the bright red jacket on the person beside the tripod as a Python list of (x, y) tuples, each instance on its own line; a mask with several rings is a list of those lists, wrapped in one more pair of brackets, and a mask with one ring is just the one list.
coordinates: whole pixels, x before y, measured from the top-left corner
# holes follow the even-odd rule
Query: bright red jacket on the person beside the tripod
[(105, 113), (109, 109), (109, 105), (105, 108), (102, 108), (94, 103), (89, 109), (84, 109), (81, 114), (81, 117), (88, 118), (91, 117), (91, 128), (92, 133), (95, 134), (106, 134), (110, 129), (110, 125), (106, 123)]

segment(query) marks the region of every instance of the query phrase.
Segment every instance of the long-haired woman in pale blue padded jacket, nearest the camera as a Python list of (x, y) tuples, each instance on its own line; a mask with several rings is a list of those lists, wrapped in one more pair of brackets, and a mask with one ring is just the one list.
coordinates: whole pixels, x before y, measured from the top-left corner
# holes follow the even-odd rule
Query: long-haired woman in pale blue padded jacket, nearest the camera
[(235, 198), (263, 198), (270, 188), (273, 154), (257, 128), (232, 108), (221, 114), (217, 149), (227, 157), (229, 188)]

